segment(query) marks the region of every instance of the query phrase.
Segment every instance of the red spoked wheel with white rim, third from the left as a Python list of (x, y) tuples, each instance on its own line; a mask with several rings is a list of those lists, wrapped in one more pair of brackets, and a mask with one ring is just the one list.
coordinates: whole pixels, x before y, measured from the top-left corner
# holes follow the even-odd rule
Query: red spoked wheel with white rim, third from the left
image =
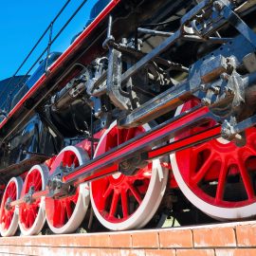
[[(53, 162), (50, 174), (60, 167), (78, 167), (84, 164), (89, 156), (82, 148), (65, 147)], [(70, 188), (70, 195), (53, 199), (46, 197), (46, 220), (49, 228), (57, 234), (75, 231), (82, 224), (82, 220), (89, 205), (89, 188), (86, 183), (77, 189)]]

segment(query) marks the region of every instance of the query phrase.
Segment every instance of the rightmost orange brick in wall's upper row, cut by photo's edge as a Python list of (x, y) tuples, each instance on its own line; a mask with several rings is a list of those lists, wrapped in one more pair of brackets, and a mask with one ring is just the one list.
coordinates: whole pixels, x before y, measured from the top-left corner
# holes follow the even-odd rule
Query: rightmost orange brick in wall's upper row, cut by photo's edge
[(256, 225), (241, 225), (236, 227), (238, 247), (256, 246)]

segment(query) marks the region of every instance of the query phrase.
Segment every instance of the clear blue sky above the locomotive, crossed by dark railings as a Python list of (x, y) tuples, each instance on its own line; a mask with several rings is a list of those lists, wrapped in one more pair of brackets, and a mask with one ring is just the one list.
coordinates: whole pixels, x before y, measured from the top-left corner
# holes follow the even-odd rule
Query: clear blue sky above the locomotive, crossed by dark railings
[[(84, 27), (89, 16), (89, 10), (96, 1), (87, 0), (74, 21), (65, 28), (64, 34), (52, 46), (52, 51), (64, 51), (69, 46), (71, 38)], [(30, 48), (34, 46), (65, 2), (66, 0), (9, 0), (0, 2), (0, 81), (13, 75), (27, 56)], [(83, 0), (70, 1), (59, 22), (54, 25), (53, 36), (82, 2)], [(30, 64), (46, 47), (47, 39), (48, 35), (36, 53), (32, 55)], [(28, 65), (21, 70), (19, 75), (25, 74), (27, 68)]]

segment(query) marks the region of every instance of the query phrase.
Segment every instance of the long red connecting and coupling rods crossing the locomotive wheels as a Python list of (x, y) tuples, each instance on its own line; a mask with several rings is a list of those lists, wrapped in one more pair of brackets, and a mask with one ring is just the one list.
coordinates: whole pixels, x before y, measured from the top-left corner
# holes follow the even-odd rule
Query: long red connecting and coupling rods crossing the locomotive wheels
[[(210, 119), (213, 119), (213, 116), (208, 107), (196, 107), (189, 112), (185, 112), (174, 119), (170, 119), (156, 126), (139, 137), (123, 143), (116, 149), (90, 160), (87, 164), (78, 167), (72, 173), (64, 175), (63, 182), (78, 186), (83, 182), (119, 172), (119, 163), (137, 154), (143, 155), (145, 160), (150, 161), (210, 140), (211, 138), (220, 137), (221, 126), (217, 124), (191, 137), (184, 137), (170, 142), (170, 139), (178, 136), (185, 129), (188, 129), (188, 127), (196, 126)], [(165, 142), (164, 145), (163, 142)], [(162, 146), (152, 150), (153, 147), (159, 144)], [(42, 192), (34, 192), (32, 198), (35, 200), (40, 196), (47, 196), (48, 192), (48, 189)], [(25, 198), (20, 198), (10, 202), (9, 205), (15, 206), (23, 202), (25, 202)]]

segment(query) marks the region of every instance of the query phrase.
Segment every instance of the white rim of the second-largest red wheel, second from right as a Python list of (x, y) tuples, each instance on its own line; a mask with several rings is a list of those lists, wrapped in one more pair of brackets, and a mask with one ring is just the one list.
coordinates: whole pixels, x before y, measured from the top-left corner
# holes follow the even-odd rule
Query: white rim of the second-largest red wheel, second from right
[[(101, 146), (101, 141), (104, 137), (109, 133), (109, 131), (115, 127), (117, 121), (114, 121), (110, 127), (104, 132), (102, 135), (98, 147), (95, 151), (95, 155)], [(143, 125), (143, 128), (147, 131), (150, 129), (148, 124)], [(114, 178), (118, 175), (114, 174)], [(150, 180), (150, 184), (148, 190), (143, 198), (142, 203), (138, 207), (138, 209), (125, 221), (120, 223), (112, 223), (107, 221), (102, 217), (101, 212), (98, 210), (93, 193), (92, 193), (92, 185), (90, 184), (90, 196), (92, 208), (95, 212), (96, 217), (101, 222), (101, 224), (111, 230), (125, 230), (125, 229), (139, 229), (144, 227), (155, 215), (155, 211), (158, 209), (161, 199), (164, 195), (166, 189), (166, 183), (168, 179), (168, 169), (163, 168), (160, 164), (160, 161), (154, 160), (152, 166), (152, 177)]]

